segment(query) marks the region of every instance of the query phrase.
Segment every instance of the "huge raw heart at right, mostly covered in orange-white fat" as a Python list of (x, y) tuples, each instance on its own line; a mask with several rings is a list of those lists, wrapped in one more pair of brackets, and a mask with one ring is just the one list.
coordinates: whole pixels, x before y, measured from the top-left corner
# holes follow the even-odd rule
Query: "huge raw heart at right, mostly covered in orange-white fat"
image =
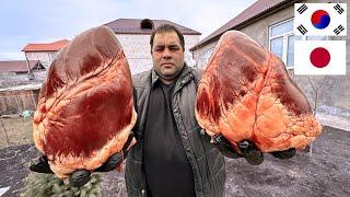
[(236, 31), (222, 35), (208, 62), (196, 117), (207, 134), (222, 134), (236, 150), (242, 140), (262, 152), (303, 149), (322, 130), (283, 62)]

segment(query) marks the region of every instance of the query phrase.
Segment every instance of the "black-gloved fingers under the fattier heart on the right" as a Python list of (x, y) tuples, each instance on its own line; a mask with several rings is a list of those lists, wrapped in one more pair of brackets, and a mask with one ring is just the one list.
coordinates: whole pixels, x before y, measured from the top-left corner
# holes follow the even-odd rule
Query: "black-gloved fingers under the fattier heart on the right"
[(210, 137), (202, 130), (201, 132), (207, 140), (210, 141), (215, 148), (225, 157), (236, 159), (245, 158), (245, 160), (252, 165), (259, 165), (264, 161), (262, 152), (259, 151), (255, 144), (250, 141), (242, 141), (238, 143), (238, 148), (242, 154), (238, 154), (231, 142), (225, 139), (221, 134)]

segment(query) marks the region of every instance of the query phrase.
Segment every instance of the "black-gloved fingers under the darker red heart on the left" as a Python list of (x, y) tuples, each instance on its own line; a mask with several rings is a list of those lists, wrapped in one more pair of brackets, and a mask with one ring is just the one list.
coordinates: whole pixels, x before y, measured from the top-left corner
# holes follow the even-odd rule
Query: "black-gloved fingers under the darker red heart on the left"
[[(129, 135), (127, 142), (120, 152), (113, 154), (103, 165), (95, 169), (94, 172), (108, 172), (121, 166), (122, 161), (128, 155), (129, 149), (136, 143), (133, 134)], [(46, 155), (42, 155), (37, 161), (33, 162), (30, 170), (37, 173), (54, 173), (48, 164)], [(81, 187), (90, 181), (91, 171), (78, 170), (69, 176), (69, 183), (73, 187)]]

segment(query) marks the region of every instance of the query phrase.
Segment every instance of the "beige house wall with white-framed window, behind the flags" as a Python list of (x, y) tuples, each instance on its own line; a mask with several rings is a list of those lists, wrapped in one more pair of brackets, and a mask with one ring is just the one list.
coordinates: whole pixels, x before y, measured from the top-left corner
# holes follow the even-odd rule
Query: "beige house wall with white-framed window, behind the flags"
[[(341, 128), (350, 130), (350, 57), (347, 56), (347, 76), (294, 76), (295, 39), (346, 39), (350, 51), (350, 36), (312, 37), (294, 36), (294, 3), (346, 3), (346, 0), (258, 0), (236, 18), (224, 24), (211, 35), (200, 40), (190, 50), (198, 67), (206, 68), (207, 62), (220, 38), (229, 30), (241, 31), (277, 55), (288, 69), (290, 77), (305, 93), (317, 116), (326, 125), (337, 119)], [(348, 9), (347, 23), (350, 24)], [(347, 27), (349, 34), (349, 25)], [(345, 128), (346, 127), (346, 128)]]

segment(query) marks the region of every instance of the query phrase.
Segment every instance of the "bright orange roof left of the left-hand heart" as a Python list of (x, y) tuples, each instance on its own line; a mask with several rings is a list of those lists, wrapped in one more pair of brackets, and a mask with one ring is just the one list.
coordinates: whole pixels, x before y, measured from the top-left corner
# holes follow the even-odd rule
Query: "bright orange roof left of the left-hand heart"
[(22, 51), (58, 51), (69, 43), (68, 39), (61, 39), (54, 43), (27, 44)]

